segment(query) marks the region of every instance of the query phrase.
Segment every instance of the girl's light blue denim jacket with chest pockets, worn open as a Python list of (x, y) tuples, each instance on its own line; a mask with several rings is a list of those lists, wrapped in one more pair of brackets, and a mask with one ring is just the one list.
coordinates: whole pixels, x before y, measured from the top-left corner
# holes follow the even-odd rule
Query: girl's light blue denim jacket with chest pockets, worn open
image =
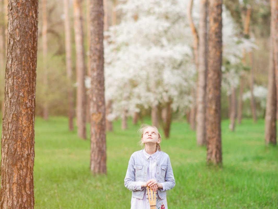
[[(171, 166), (169, 155), (159, 151), (156, 160), (156, 176), (157, 182), (161, 183), (163, 189), (158, 189), (157, 193), (160, 199), (166, 198), (166, 191), (175, 186), (175, 178)], [(128, 162), (125, 175), (125, 187), (132, 191), (132, 197), (143, 199), (145, 187), (141, 189), (143, 182), (147, 181), (148, 160), (143, 150), (134, 152)]]

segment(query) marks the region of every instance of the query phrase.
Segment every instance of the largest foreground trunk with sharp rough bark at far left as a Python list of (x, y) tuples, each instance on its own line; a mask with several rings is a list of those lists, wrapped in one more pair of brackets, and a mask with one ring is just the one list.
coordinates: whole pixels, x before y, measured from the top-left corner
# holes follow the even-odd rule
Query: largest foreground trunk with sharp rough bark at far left
[(8, 8), (0, 208), (29, 209), (34, 208), (38, 0), (9, 0)]

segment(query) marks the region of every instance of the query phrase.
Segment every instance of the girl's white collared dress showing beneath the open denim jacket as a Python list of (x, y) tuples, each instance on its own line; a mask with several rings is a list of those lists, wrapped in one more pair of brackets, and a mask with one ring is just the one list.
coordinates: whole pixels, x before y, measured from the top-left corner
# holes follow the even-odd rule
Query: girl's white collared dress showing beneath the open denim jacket
[[(147, 159), (150, 158), (148, 171), (147, 171), (147, 181), (150, 179), (157, 179), (156, 173), (155, 173), (156, 163), (154, 160), (157, 157), (158, 152), (160, 152), (160, 151), (157, 150), (152, 155), (149, 155), (145, 151), (145, 149), (143, 150), (145, 157)], [(157, 197), (156, 208), (157, 209), (168, 209), (167, 199), (165, 198), (165, 199), (161, 200), (157, 194), (156, 194), (156, 197)], [(131, 197), (131, 209), (150, 209), (150, 203), (149, 203), (149, 200), (147, 200), (147, 189), (145, 189), (145, 192), (143, 195), (143, 200)]]

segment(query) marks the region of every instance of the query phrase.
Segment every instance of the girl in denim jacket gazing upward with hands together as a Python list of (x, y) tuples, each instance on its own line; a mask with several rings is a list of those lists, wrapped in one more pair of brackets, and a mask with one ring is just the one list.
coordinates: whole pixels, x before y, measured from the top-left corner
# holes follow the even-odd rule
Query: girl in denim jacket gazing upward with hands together
[(169, 155), (161, 151), (161, 136), (155, 126), (143, 124), (139, 131), (145, 148), (131, 155), (124, 180), (132, 191), (131, 209), (150, 209), (146, 186), (156, 192), (156, 208), (167, 209), (166, 191), (176, 184)]

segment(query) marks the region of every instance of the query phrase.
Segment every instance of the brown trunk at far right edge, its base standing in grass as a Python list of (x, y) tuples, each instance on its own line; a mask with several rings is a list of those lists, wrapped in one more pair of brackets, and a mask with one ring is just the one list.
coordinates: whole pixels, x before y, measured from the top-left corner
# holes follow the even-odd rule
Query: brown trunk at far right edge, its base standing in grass
[[(269, 52), (269, 72), (267, 87), (267, 103), (265, 110), (265, 143), (276, 145), (276, 113), (277, 113), (277, 69), (275, 69), (275, 39), (277, 36), (277, 0), (270, 1), (271, 21), (270, 21), (270, 52)], [(276, 21), (275, 21), (276, 20)], [(277, 58), (276, 58), (277, 60)]]

